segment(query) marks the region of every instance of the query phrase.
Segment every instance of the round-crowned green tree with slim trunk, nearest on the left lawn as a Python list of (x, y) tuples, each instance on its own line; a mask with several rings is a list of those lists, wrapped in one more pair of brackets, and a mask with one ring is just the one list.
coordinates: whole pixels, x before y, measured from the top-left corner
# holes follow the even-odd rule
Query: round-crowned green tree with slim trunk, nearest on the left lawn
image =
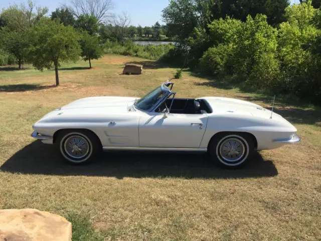
[(42, 19), (31, 32), (31, 62), (40, 71), (54, 67), (58, 86), (60, 64), (66, 61), (76, 62), (79, 59), (79, 34), (73, 27), (50, 19)]

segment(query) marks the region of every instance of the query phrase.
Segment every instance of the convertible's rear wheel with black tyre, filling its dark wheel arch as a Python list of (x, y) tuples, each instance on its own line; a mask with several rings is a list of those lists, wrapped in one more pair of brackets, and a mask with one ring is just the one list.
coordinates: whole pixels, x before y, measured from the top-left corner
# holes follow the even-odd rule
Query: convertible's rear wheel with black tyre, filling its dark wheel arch
[(240, 167), (251, 158), (254, 144), (249, 134), (224, 133), (211, 140), (209, 153), (220, 166)]

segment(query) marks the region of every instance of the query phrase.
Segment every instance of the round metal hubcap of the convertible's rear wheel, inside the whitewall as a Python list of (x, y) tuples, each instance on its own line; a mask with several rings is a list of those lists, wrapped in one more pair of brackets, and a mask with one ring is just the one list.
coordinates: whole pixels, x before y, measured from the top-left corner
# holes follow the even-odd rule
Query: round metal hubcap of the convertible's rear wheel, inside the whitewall
[(236, 138), (229, 138), (220, 145), (220, 155), (228, 162), (237, 162), (245, 153), (244, 144)]

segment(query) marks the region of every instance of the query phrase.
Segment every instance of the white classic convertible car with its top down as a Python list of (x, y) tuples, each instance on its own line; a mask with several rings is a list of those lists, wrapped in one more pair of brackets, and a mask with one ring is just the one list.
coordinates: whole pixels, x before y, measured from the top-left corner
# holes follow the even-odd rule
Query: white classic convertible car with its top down
[(74, 164), (101, 150), (208, 152), (218, 164), (237, 167), (256, 150), (300, 139), (279, 114), (223, 97), (175, 98), (165, 82), (142, 98), (89, 97), (46, 114), (32, 137), (55, 144)]

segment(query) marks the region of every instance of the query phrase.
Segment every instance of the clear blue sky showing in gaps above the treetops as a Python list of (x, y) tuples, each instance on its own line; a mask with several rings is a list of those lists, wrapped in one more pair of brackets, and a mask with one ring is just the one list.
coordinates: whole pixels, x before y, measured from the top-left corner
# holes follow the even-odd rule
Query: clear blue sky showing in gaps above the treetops
[[(0, 9), (8, 8), (11, 4), (25, 3), (28, 0), (0, 0)], [(37, 6), (48, 7), (49, 14), (59, 8), (61, 5), (68, 3), (68, 0), (36, 0)], [(169, 0), (113, 0), (113, 13), (121, 14), (127, 12), (130, 16), (130, 24), (137, 26), (151, 26), (158, 21), (162, 21), (162, 10), (169, 4)], [(291, 0), (291, 3), (299, 3), (299, 0)]]

